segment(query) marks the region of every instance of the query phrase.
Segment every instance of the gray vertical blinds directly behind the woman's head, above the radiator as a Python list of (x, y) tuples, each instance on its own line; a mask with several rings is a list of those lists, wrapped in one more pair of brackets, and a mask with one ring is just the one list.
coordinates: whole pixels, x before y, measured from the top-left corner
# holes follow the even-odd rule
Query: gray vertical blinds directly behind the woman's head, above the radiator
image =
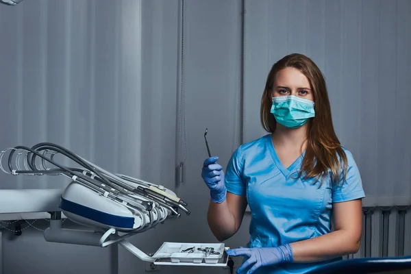
[(334, 127), (358, 163), (364, 202), (410, 204), (411, 1), (246, 5), (244, 141), (264, 134), (258, 108), (273, 63), (306, 54), (327, 80)]

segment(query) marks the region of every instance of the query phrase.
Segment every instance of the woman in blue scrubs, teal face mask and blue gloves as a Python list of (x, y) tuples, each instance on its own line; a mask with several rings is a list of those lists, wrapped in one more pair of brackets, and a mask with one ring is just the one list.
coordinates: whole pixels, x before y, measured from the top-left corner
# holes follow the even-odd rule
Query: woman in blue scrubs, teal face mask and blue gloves
[[(307, 273), (356, 253), (364, 190), (356, 162), (334, 132), (325, 79), (305, 55), (273, 65), (260, 110), (267, 134), (241, 145), (227, 170), (204, 161), (210, 188), (208, 223), (227, 240), (251, 209), (247, 248), (237, 273)], [(331, 232), (331, 217), (334, 231)]]

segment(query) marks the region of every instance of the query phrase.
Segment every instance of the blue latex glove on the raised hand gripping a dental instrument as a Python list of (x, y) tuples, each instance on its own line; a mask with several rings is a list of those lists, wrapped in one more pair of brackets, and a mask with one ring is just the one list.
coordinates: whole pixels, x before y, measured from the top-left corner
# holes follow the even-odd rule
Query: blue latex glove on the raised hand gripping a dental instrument
[(217, 164), (218, 160), (218, 157), (207, 158), (201, 171), (201, 177), (203, 177), (204, 182), (210, 188), (210, 196), (214, 203), (222, 203), (227, 196), (223, 166)]

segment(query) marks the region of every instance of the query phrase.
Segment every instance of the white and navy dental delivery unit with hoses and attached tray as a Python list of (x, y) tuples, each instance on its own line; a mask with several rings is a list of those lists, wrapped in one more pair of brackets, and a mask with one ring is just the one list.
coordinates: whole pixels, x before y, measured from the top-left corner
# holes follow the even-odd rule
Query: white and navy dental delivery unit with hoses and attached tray
[[(72, 160), (76, 167), (59, 164), (57, 159), (61, 156)], [(11, 175), (62, 175), (71, 179), (59, 195), (60, 201), (56, 201), (59, 203), (55, 207), (57, 209), (49, 212), (50, 225), (44, 232), (48, 242), (96, 247), (118, 244), (140, 260), (153, 264), (227, 266), (225, 251), (228, 247), (223, 243), (164, 242), (149, 256), (127, 241), (128, 237), (145, 232), (167, 219), (178, 218), (180, 212), (190, 214), (187, 203), (164, 186), (110, 173), (49, 142), (32, 148), (17, 146), (1, 151), (0, 168)], [(42, 190), (45, 191), (53, 190)], [(62, 213), (67, 219), (94, 231), (62, 228)]]

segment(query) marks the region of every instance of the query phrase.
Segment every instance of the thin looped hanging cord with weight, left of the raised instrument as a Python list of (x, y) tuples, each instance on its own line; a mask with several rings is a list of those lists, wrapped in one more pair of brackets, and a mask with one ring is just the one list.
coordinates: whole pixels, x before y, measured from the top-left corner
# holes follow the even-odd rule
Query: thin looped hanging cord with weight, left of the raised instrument
[[(186, 161), (186, 98), (185, 98), (185, 72), (184, 72), (184, 16), (186, 12), (185, 1), (182, 0), (181, 10), (181, 43), (180, 43), (180, 66), (179, 66), (179, 110), (178, 110), (178, 157), (179, 163), (178, 183), (183, 183), (183, 166)], [(177, 186), (179, 185), (177, 184)]]

